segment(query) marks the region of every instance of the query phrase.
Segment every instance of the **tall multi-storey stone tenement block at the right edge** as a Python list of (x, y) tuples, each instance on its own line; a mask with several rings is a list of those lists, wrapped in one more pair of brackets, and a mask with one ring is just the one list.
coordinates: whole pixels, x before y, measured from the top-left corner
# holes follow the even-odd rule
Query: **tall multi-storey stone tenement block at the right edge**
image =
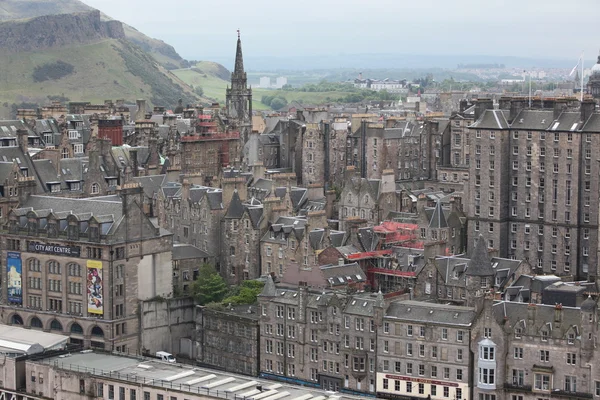
[[(596, 275), (600, 113), (574, 99), (479, 100), (466, 185), (468, 236), (538, 273)], [(537, 108), (536, 108), (537, 107)], [(472, 243), (469, 243), (469, 248)]]

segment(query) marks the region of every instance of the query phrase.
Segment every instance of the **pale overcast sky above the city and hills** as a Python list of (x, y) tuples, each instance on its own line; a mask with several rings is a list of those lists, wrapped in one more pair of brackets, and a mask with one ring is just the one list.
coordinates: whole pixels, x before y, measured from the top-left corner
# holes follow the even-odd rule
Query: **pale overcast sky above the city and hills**
[(332, 53), (577, 61), (600, 49), (600, 0), (83, 0), (186, 59)]

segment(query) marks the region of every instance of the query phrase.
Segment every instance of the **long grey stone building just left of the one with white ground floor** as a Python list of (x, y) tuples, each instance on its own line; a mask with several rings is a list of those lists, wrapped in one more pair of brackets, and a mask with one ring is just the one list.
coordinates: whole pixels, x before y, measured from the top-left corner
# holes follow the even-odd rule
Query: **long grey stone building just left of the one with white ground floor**
[(261, 375), (333, 391), (375, 394), (382, 294), (276, 287), (259, 296)]

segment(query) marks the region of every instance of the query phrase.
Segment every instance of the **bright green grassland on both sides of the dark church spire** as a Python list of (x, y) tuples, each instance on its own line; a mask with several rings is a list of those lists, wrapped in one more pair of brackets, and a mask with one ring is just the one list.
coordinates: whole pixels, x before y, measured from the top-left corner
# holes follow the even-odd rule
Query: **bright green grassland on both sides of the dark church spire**
[[(214, 65), (211, 62), (202, 61), (198, 63), (195, 69), (184, 68), (172, 71), (177, 77), (188, 85), (194, 87), (200, 86), (204, 90), (204, 96), (218, 101), (225, 100), (225, 89), (229, 82), (214, 75)], [(198, 72), (200, 70), (201, 72)], [(287, 92), (282, 90), (268, 90), (254, 88), (252, 89), (254, 101), (252, 107), (255, 110), (269, 109), (260, 102), (262, 96), (281, 96), (288, 102), (298, 101), (303, 104), (323, 104), (329, 101), (335, 101), (340, 97), (347, 95), (346, 92)]]

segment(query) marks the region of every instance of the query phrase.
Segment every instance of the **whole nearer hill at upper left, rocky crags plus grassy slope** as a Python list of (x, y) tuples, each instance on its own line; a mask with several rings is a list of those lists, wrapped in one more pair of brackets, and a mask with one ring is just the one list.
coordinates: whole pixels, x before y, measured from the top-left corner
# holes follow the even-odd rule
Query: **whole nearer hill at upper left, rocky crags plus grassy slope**
[[(192, 89), (124, 38), (98, 11), (0, 23), (0, 104), (146, 98), (174, 107)], [(118, 26), (117, 26), (118, 25)], [(60, 26), (60, 28), (57, 28)], [(68, 33), (66, 33), (68, 32)]]

